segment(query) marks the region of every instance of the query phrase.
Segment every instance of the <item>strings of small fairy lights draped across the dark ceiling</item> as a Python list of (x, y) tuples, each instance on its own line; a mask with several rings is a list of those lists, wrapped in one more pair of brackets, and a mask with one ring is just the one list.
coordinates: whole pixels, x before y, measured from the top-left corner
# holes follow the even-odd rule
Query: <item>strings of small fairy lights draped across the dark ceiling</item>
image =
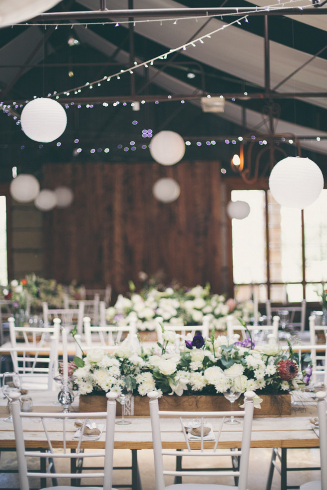
[[(284, 1), (284, 2), (279, 2), (279, 3), (275, 3), (275, 4), (270, 4), (268, 6), (264, 6), (264, 7), (260, 7), (260, 6), (257, 6), (256, 7), (256, 11), (258, 12), (265, 12), (265, 11), (271, 11), (271, 10), (279, 10), (281, 12), (281, 14), (283, 13), (283, 9), (286, 9), (289, 7), (290, 4), (292, 4), (293, 6), (298, 2), (298, 1), (302, 1), (302, 0), (289, 0), (289, 1)], [(309, 7), (312, 7), (312, 2), (310, 1), (308, 3), (308, 5), (299, 5), (298, 8), (300, 8), (301, 10), (305, 10), (306, 8), (309, 8)], [(237, 13), (237, 7), (236, 7), (236, 13)], [(116, 79), (116, 80), (119, 80), (121, 78), (121, 76), (125, 75), (125, 74), (133, 74), (134, 73), (134, 70), (137, 70), (139, 68), (149, 68), (151, 66), (154, 65), (154, 63), (158, 60), (166, 60), (168, 56), (172, 55), (173, 53), (176, 53), (178, 51), (185, 51), (187, 50), (188, 48), (196, 48), (197, 45), (199, 44), (204, 44), (205, 42), (208, 42), (210, 41), (210, 39), (212, 38), (212, 36), (215, 36), (216, 34), (218, 34), (219, 32), (223, 31), (224, 29), (234, 25), (234, 24), (238, 24), (238, 25), (242, 25), (242, 22), (249, 22), (249, 14), (251, 13), (251, 11), (249, 10), (248, 12), (242, 12), (242, 16), (241, 17), (238, 17), (228, 23), (225, 23), (225, 24), (222, 24), (220, 25), (218, 28), (210, 31), (209, 33), (207, 34), (204, 34), (204, 35), (201, 35), (199, 37), (197, 37), (196, 39), (193, 39), (189, 42), (186, 42), (186, 43), (183, 43), (181, 45), (179, 45), (178, 47), (176, 48), (172, 48), (172, 49), (169, 49), (168, 51), (158, 55), (158, 56), (155, 56), (153, 58), (150, 58), (146, 61), (141, 61), (141, 62), (137, 62), (137, 61), (134, 61), (134, 65), (133, 66), (130, 66), (130, 67), (127, 67), (125, 69), (121, 69), (119, 70), (118, 72), (116, 73), (113, 73), (111, 75), (105, 75), (99, 79), (96, 79), (96, 80), (93, 80), (93, 81), (87, 81), (85, 83), (83, 83), (82, 85), (79, 85), (79, 86), (76, 86), (74, 88), (71, 88), (69, 90), (63, 90), (63, 91), (53, 91), (52, 93), (48, 93), (47, 94), (47, 97), (48, 98), (55, 98), (55, 99), (59, 99), (60, 96), (69, 96), (71, 95), (72, 93), (74, 95), (78, 95), (82, 92), (82, 90), (92, 90), (93, 88), (96, 88), (96, 87), (100, 87), (101, 84), (103, 82), (110, 82), (110, 80), (112, 79)], [(223, 17), (225, 16), (230, 16), (230, 15), (235, 15), (232, 14), (232, 13), (224, 13), (222, 14), (220, 17), (221, 17), (221, 20), (223, 20)], [(78, 22), (78, 23), (65, 23), (65, 22), (60, 22), (58, 24), (55, 24), (55, 28), (59, 28), (60, 26), (65, 26), (65, 25), (70, 25), (71, 28), (74, 27), (74, 25), (78, 25), (78, 26), (81, 26), (81, 25), (84, 25), (85, 28), (88, 27), (88, 25), (113, 25), (114, 27), (119, 27), (120, 25), (122, 24), (130, 24), (130, 23), (133, 23), (134, 25), (136, 25), (136, 23), (145, 23), (145, 22), (159, 22), (160, 25), (162, 26), (163, 23), (165, 22), (173, 22), (173, 24), (177, 24), (179, 21), (184, 21), (184, 20), (195, 20), (195, 21), (198, 21), (199, 19), (203, 19), (203, 18), (208, 18), (208, 17), (217, 17), (217, 15), (205, 15), (205, 16), (196, 16), (196, 17), (179, 17), (179, 18), (160, 18), (160, 19), (133, 19), (133, 20), (122, 20), (122, 21), (119, 21), (119, 22), (116, 22), (116, 21), (100, 21), (100, 22)], [(30, 22), (26, 22), (26, 23), (19, 23), (19, 24), (15, 24), (15, 25), (22, 25), (22, 26), (31, 26), (31, 25), (37, 25), (37, 26), (40, 26), (42, 25), (44, 27), (44, 29), (46, 29), (47, 26), (51, 25), (53, 26), (53, 22), (51, 23), (43, 23), (40, 24), (40, 23), (30, 23)], [(210, 97), (210, 94), (207, 95), (208, 97)], [(221, 96), (223, 97), (223, 96)], [(37, 98), (36, 95), (34, 95), (33, 97), (34, 99)], [(200, 98), (200, 96), (199, 96)], [(167, 95), (167, 100), (173, 100), (173, 96), (172, 95)], [(234, 102), (235, 99), (232, 99), (232, 101)], [(29, 100), (26, 100), (25, 103), (27, 104), (29, 102)], [(146, 103), (147, 101), (146, 100), (141, 100), (140, 103), (141, 104), (144, 104)], [(159, 101), (156, 100), (154, 101), (155, 104), (159, 104)], [(185, 100), (180, 100), (180, 103), (181, 104), (184, 104), (185, 103)], [(109, 105), (109, 103), (107, 102), (103, 102), (102, 103), (103, 106), (107, 107)], [(116, 106), (128, 106), (128, 102), (119, 102), (119, 101), (115, 101), (112, 103), (112, 106), (113, 107), (116, 107)], [(131, 106), (134, 105), (134, 102), (131, 102), (130, 103)], [(17, 104), (16, 102), (12, 102), (12, 103), (9, 103), (9, 104), (6, 104), (4, 103), (3, 101), (0, 102), (0, 109), (2, 109), (3, 112), (5, 112), (8, 116), (11, 116), (13, 117), (13, 119), (16, 121), (16, 125), (19, 125), (20, 124), (20, 119), (19, 119), (19, 114), (16, 113), (16, 110), (19, 109), (19, 108), (23, 108), (24, 104)], [(78, 109), (82, 109), (82, 108), (85, 108), (87, 110), (89, 109), (92, 109), (94, 108), (94, 104), (81, 104), (78, 102), (78, 98), (76, 98), (76, 102), (70, 102), (69, 104), (66, 103), (64, 104), (64, 107), (65, 109), (69, 109), (71, 107), (74, 107), (76, 106)], [(132, 124), (137, 124), (138, 122), (136, 120), (133, 121)], [(142, 130), (142, 138), (151, 138), (152, 137), (152, 130), (151, 129), (143, 129)], [(223, 140), (221, 138), (213, 138), (211, 140), (206, 140), (206, 141), (201, 141), (199, 139), (197, 140), (187, 140), (185, 142), (186, 146), (190, 146), (190, 145), (193, 145), (195, 144), (196, 146), (202, 146), (203, 144), (206, 145), (206, 146), (211, 146), (211, 145), (215, 145), (216, 142), (218, 141), (224, 141), (225, 144), (237, 144), (239, 141), (241, 141), (241, 138), (242, 136), (239, 136), (237, 138), (223, 138)], [(321, 138), (312, 138), (312, 137), (308, 137), (310, 140), (317, 140), (319, 141)], [(308, 139), (307, 138), (307, 139)], [(306, 137), (304, 138), (306, 139)], [(323, 139), (323, 138), (322, 138)], [(78, 146), (78, 144), (80, 143), (79, 139), (75, 138), (74, 139), (74, 144), (76, 144), (76, 148), (74, 150), (74, 154), (75, 155), (78, 155), (79, 153), (81, 153), (82, 151), (84, 151), (84, 148), (82, 148), (82, 145), (81, 146)], [(293, 142), (292, 142), (293, 143)], [(290, 141), (290, 144), (292, 144), (291, 141)], [(60, 147), (62, 145), (62, 143), (60, 141), (57, 141), (56, 143), (56, 146), (57, 147)], [(70, 143), (71, 144), (71, 143)], [(267, 141), (265, 140), (260, 140), (259, 141), (259, 144), (261, 145), (265, 145), (267, 144)], [(43, 144), (40, 144), (38, 145), (39, 148), (43, 148)], [(136, 149), (140, 148), (142, 150), (146, 149), (148, 147), (147, 144), (145, 143), (141, 143), (139, 145), (137, 145), (135, 143), (135, 141), (130, 141), (129, 144), (117, 144), (115, 143), (115, 148), (117, 150), (121, 150), (121, 151), (124, 151), (124, 152), (133, 152), (135, 151)], [(21, 150), (24, 150), (25, 149), (25, 145), (21, 145), (20, 146), (20, 149)], [(97, 153), (101, 153), (102, 151), (104, 153), (109, 153), (110, 151), (110, 148), (109, 147), (104, 147), (104, 148), (88, 148), (86, 151), (88, 151), (90, 154), (97, 154)]]

